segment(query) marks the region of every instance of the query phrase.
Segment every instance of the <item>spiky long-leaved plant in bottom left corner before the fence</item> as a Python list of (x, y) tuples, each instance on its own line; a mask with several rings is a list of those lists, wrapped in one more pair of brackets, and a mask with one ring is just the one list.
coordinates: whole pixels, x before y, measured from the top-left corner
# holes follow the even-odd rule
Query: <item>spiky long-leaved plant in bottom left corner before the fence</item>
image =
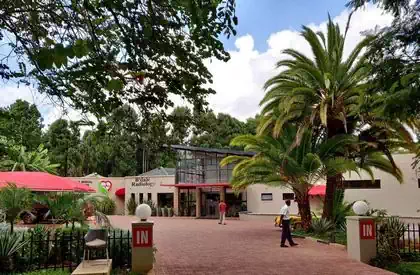
[(10, 231), (0, 232), (0, 273), (12, 272), (13, 256), (25, 246), (30, 239), (22, 240), (22, 235)]

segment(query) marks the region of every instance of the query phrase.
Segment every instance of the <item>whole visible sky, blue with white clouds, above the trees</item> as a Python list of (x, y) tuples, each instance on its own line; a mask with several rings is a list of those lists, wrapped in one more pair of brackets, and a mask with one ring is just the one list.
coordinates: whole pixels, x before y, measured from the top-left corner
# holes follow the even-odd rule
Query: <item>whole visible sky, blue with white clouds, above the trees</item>
[[(264, 96), (263, 85), (278, 73), (275, 63), (284, 58), (286, 48), (310, 55), (310, 48), (299, 35), (302, 25), (314, 30), (325, 30), (328, 14), (343, 29), (349, 10), (343, 0), (237, 0), (239, 19), (237, 35), (222, 38), (231, 59), (222, 62), (205, 60), (213, 74), (212, 88), (216, 94), (209, 96), (210, 107), (216, 112), (229, 113), (245, 120), (259, 111), (258, 103)], [(345, 54), (362, 39), (361, 32), (376, 26), (389, 25), (392, 16), (375, 6), (368, 5), (353, 15), (345, 44)], [(0, 106), (16, 99), (35, 103), (48, 126), (58, 118), (80, 119), (77, 110), (57, 107), (36, 89), (13, 83), (0, 83)], [(178, 105), (184, 102), (176, 100)]]

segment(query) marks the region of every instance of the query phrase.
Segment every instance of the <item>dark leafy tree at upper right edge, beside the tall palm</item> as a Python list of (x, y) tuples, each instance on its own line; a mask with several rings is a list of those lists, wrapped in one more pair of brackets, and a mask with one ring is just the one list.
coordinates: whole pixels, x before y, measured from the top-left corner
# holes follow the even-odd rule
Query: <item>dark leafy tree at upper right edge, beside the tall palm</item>
[(368, 48), (374, 85), (379, 93), (374, 108), (381, 115), (412, 121), (420, 118), (420, 1), (352, 0), (354, 9), (377, 3), (394, 14), (390, 26), (370, 30), (374, 40)]

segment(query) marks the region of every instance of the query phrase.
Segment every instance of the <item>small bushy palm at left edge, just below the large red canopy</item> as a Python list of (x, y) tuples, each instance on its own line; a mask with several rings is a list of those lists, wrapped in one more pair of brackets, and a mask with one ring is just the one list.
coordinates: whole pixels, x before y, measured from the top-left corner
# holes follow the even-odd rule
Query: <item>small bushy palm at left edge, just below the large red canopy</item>
[(32, 195), (29, 189), (18, 188), (14, 183), (8, 183), (6, 187), (0, 189), (0, 209), (6, 213), (6, 220), (10, 223), (12, 233), (16, 218), (31, 207)]

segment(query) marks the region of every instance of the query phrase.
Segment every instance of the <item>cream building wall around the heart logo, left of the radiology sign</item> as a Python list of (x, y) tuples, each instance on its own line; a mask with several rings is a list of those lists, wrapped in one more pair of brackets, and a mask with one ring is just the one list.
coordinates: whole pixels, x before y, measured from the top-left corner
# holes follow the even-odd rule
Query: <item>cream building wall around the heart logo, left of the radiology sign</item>
[(111, 182), (112, 186), (111, 189), (108, 191), (108, 196), (115, 201), (116, 208), (115, 208), (115, 214), (116, 215), (124, 215), (124, 197), (118, 197), (115, 195), (115, 191), (117, 191), (120, 188), (124, 188), (124, 178), (123, 177), (109, 177), (109, 178), (98, 178), (98, 177), (73, 177), (71, 178), (73, 180), (79, 181), (81, 183), (84, 183), (86, 185), (89, 185), (93, 189), (95, 189), (98, 192), (99, 184), (102, 181), (109, 181)]

